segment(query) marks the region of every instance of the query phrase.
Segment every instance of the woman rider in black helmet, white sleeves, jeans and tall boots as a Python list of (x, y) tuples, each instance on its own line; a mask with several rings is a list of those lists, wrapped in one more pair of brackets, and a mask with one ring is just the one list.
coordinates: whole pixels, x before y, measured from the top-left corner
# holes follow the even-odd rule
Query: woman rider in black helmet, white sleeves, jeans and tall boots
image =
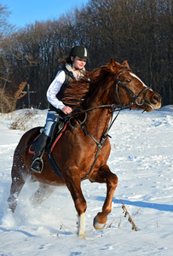
[(54, 81), (47, 90), (47, 99), (50, 103), (44, 131), (38, 138), (35, 153), (32, 159), (30, 171), (41, 173), (43, 170), (43, 152), (46, 148), (49, 137), (51, 137), (55, 123), (63, 118), (65, 114), (71, 113), (72, 108), (62, 102), (66, 87), (73, 79), (79, 79), (83, 75), (84, 66), (88, 59), (88, 51), (83, 46), (75, 46), (71, 49), (70, 55), (64, 60), (62, 70), (57, 73)]

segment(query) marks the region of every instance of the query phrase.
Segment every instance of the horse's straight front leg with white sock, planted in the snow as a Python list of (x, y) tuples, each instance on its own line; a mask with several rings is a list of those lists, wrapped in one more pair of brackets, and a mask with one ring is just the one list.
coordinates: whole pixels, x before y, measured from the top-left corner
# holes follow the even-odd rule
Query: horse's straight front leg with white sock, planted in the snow
[(75, 173), (73, 176), (66, 177), (66, 186), (70, 190), (74, 205), (78, 212), (78, 237), (85, 238), (85, 211), (87, 208), (86, 201), (81, 189), (81, 178)]

